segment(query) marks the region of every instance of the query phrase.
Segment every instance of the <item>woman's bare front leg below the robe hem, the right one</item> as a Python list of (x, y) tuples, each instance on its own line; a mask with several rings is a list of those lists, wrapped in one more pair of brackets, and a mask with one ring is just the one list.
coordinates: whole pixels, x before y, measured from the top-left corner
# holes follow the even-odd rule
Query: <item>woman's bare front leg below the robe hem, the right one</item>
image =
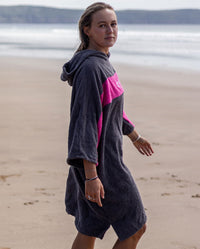
[(136, 249), (136, 246), (145, 231), (146, 225), (144, 225), (136, 234), (134, 234), (130, 238), (123, 241), (117, 240), (113, 249)]

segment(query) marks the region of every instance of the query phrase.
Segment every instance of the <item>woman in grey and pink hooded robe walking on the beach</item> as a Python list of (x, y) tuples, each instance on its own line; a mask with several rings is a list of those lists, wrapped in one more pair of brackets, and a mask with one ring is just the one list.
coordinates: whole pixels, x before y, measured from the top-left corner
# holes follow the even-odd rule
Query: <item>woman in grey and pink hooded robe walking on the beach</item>
[(118, 33), (113, 8), (89, 6), (79, 31), (81, 44), (61, 75), (72, 86), (65, 199), (78, 230), (72, 249), (93, 249), (110, 225), (118, 236), (113, 248), (134, 249), (145, 231), (146, 215), (122, 160), (122, 135), (143, 155), (153, 150), (123, 111), (123, 88), (109, 62)]

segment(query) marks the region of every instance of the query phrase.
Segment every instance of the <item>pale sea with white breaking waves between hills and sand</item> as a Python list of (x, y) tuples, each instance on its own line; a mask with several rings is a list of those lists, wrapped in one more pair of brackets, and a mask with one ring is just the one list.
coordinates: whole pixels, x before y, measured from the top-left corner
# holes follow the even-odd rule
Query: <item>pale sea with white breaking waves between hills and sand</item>
[[(0, 56), (70, 59), (76, 24), (0, 24)], [(112, 62), (200, 72), (200, 25), (119, 24)]]

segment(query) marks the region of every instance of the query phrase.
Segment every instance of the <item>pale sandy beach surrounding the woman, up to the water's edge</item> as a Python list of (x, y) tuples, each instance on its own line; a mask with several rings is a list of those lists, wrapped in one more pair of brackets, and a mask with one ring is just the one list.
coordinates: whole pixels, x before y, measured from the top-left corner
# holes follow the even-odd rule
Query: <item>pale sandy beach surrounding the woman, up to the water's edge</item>
[[(64, 60), (0, 57), (0, 249), (70, 249)], [(124, 138), (148, 216), (138, 249), (200, 249), (200, 72), (115, 65), (125, 110), (155, 154)], [(96, 249), (112, 248), (112, 228)]]

